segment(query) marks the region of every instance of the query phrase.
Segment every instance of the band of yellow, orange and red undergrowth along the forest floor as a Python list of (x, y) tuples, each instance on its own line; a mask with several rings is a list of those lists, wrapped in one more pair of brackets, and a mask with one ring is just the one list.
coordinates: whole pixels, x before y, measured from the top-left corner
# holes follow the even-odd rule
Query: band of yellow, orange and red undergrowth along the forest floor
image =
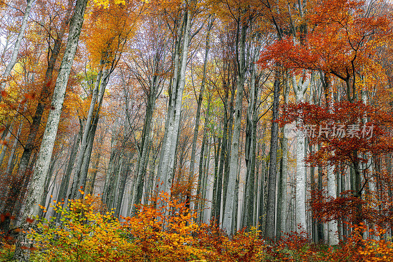
[[(56, 204), (61, 223), (39, 221), (29, 237), (32, 261), (219, 261), (219, 262), (390, 262), (393, 246), (385, 230), (364, 224), (338, 246), (311, 242), (305, 232), (291, 232), (276, 243), (260, 238), (255, 228), (229, 238), (217, 225), (198, 225), (185, 203), (160, 194), (151, 205), (141, 205), (133, 217), (119, 221), (110, 212), (99, 212), (94, 197)], [(368, 231), (370, 238), (361, 235)], [(372, 237), (373, 236), (373, 237)], [(0, 248), (0, 259), (11, 261), (13, 245)]]

